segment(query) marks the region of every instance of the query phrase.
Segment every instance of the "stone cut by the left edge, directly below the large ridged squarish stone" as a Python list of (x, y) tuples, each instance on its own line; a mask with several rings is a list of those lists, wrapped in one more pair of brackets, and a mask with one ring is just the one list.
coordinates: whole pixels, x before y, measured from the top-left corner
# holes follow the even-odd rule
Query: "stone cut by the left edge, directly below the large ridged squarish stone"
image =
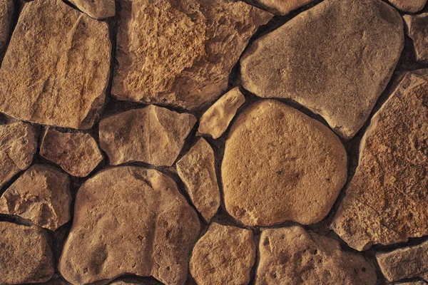
[(36, 131), (30, 124), (0, 125), (0, 187), (31, 165), (36, 150)]

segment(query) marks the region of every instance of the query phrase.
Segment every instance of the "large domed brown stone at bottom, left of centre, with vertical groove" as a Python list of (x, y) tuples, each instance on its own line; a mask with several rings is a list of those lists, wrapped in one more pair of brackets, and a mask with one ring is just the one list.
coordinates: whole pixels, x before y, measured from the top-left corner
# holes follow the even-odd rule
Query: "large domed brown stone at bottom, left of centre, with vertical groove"
[(156, 170), (113, 167), (83, 183), (58, 269), (75, 285), (123, 274), (184, 284), (198, 215), (175, 182)]

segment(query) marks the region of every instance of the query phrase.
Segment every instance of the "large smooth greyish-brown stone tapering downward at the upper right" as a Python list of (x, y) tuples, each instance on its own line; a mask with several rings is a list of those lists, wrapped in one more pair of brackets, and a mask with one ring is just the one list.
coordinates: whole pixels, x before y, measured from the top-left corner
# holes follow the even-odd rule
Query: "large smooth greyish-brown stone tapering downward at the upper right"
[(380, 0), (326, 0), (258, 38), (240, 60), (245, 89), (290, 98), (350, 139), (404, 47), (401, 16)]

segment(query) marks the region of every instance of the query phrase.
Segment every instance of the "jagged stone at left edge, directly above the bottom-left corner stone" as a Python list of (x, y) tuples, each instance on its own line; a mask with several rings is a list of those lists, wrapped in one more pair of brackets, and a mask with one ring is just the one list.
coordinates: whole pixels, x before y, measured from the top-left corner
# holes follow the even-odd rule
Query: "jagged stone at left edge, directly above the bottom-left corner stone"
[(70, 219), (68, 175), (48, 165), (33, 165), (0, 198), (0, 213), (14, 214), (54, 231)]

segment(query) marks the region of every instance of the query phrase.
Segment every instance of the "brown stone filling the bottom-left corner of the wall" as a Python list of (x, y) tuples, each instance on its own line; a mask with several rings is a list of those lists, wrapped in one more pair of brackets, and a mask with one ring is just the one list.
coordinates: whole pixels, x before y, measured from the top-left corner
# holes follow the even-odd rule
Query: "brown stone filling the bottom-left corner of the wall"
[(54, 275), (54, 255), (40, 227), (0, 222), (0, 283), (45, 282)]

